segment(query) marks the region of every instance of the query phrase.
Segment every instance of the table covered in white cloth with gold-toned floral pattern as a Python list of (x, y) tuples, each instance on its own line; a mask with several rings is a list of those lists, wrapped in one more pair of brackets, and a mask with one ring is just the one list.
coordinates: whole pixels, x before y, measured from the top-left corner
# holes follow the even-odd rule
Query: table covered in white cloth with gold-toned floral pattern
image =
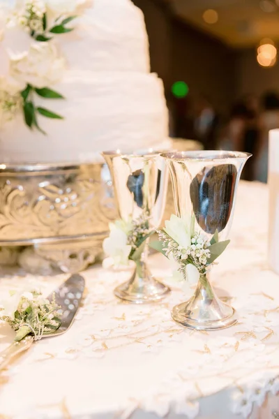
[[(0, 418), (276, 418), (279, 277), (266, 265), (267, 206), (264, 184), (241, 183), (232, 242), (213, 270), (218, 295), (238, 311), (236, 326), (184, 329), (170, 310), (193, 291), (172, 284), (160, 304), (124, 304), (112, 291), (130, 272), (93, 267), (84, 272), (87, 296), (73, 327), (35, 344), (0, 376)], [(159, 254), (151, 269), (170, 277)], [(65, 278), (3, 275), (0, 294), (36, 281), (48, 295)], [(1, 324), (0, 350), (12, 339)]]

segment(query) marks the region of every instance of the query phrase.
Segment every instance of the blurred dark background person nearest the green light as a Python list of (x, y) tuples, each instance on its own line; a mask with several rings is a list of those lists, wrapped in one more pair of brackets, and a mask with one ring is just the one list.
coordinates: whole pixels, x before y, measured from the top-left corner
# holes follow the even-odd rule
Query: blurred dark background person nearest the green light
[(209, 98), (204, 95), (197, 98), (195, 114), (195, 138), (202, 142), (204, 149), (216, 149), (219, 118)]

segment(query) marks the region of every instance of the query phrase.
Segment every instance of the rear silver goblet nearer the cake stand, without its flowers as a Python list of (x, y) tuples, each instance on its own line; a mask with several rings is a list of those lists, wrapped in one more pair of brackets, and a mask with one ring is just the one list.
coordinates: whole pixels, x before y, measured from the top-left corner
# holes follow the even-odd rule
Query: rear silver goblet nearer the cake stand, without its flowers
[[(116, 205), (121, 219), (133, 221), (143, 217), (149, 221), (149, 229), (160, 225), (165, 210), (168, 170), (160, 153), (149, 150), (142, 153), (126, 153), (120, 150), (103, 152), (110, 168)], [(169, 288), (151, 275), (146, 259), (147, 242), (130, 280), (114, 290), (121, 300), (136, 304), (161, 300)]]

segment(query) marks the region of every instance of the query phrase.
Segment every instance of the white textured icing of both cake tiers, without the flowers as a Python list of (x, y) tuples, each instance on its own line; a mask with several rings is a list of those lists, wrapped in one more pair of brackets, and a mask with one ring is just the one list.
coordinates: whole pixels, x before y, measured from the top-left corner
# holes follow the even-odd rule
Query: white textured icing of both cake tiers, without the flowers
[(79, 161), (103, 149), (162, 147), (168, 134), (163, 83), (149, 73), (144, 17), (130, 0), (94, 0), (70, 34), (56, 37), (68, 71), (52, 87), (65, 100), (36, 96), (63, 115), (38, 117), (47, 135), (22, 115), (0, 131), (2, 162)]

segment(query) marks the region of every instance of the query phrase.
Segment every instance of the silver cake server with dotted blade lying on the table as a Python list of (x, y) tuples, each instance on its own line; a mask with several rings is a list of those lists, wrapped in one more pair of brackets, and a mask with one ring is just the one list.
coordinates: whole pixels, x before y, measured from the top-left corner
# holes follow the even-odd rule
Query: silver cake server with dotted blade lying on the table
[[(54, 332), (43, 335), (42, 338), (62, 335), (70, 328), (82, 301), (84, 285), (84, 278), (79, 274), (73, 274), (47, 297), (47, 300), (52, 301), (52, 297), (55, 295), (56, 304), (61, 307), (59, 310), (59, 312), (61, 311), (61, 326)], [(6, 367), (16, 355), (27, 351), (33, 344), (33, 341), (33, 336), (27, 336), (19, 342), (14, 341), (13, 344), (2, 351), (0, 353), (0, 370)]]

